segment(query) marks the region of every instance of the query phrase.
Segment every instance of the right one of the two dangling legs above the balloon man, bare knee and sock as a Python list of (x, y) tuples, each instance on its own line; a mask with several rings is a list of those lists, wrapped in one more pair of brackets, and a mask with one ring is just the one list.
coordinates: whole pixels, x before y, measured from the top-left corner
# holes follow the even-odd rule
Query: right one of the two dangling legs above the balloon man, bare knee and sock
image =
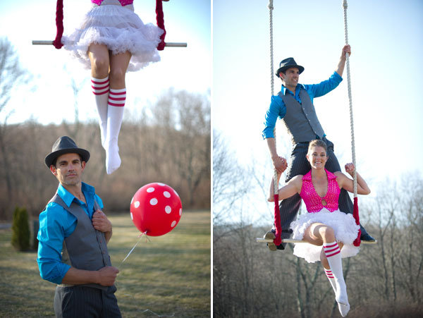
[(131, 54), (110, 54), (110, 92), (109, 109), (107, 112), (106, 135), (106, 171), (112, 173), (121, 166), (119, 157), (118, 135), (123, 119), (123, 106), (125, 106), (126, 88), (125, 73), (128, 68)]

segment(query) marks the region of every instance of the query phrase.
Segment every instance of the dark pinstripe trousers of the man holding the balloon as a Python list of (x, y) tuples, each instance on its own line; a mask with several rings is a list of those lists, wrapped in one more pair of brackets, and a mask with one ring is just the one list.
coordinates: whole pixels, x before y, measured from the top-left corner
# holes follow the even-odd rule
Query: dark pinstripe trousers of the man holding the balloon
[(87, 286), (57, 286), (54, 293), (56, 317), (122, 317), (118, 300), (114, 295), (115, 286), (106, 291)]

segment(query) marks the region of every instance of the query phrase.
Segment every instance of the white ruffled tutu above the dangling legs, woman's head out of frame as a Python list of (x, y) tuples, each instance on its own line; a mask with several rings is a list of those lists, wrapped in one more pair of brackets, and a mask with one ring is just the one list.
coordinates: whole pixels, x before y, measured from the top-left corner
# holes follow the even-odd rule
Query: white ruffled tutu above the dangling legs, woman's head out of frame
[(107, 2), (118, 5), (93, 4), (80, 26), (71, 35), (62, 37), (63, 47), (85, 68), (91, 68), (87, 50), (92, 43), (106, 44), (112, 54), (130, 51), (128, 71), (138, 71), (149, 63), (160, 61), (157, 45), (163, 30), (152, 23), (144, 24), (133, 12), (132, 5)]

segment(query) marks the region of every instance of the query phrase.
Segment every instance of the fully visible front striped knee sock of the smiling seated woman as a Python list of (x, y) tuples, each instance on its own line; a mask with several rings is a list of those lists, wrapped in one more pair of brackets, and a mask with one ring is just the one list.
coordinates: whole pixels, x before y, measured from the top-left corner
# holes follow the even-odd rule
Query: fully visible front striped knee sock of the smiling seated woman
[(342, 317), (345, 317), (350, 310), (350, 304), (348, 303), (347, 286), (343, 279), (341, 249), (336, 242), (326, 243), (323, 248), (335, 280), (335, 299), (338, 302), (338, 309)]

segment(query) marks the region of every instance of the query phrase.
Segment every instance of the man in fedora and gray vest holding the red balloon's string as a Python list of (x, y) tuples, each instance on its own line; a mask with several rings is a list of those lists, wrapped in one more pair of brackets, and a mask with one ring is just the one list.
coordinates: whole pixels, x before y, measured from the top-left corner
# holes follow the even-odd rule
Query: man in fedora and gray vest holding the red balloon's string
[(43, 279), (58, 284), (56, 317), (121, 317), (107, 243), (111, 223), (94, 187), (82, 182), (90, 152), (59, 137), (44, 159), (59, 181), (56, 194), (39, 214), (38, 267)]

